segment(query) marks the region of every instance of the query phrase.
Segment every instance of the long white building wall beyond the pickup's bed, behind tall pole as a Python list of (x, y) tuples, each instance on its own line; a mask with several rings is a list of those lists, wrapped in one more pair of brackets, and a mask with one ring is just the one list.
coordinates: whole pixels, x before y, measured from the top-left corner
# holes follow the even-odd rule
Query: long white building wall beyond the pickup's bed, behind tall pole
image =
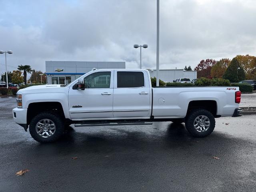
[[(156, 77), (156, 70), (148, 69), (150, 77)], [(164, 82), (173, 82), (178, 78), (197, 78), (197, 71), (183, 71), (183, 69), (164, 69), (159, 70), (159, 79)]]

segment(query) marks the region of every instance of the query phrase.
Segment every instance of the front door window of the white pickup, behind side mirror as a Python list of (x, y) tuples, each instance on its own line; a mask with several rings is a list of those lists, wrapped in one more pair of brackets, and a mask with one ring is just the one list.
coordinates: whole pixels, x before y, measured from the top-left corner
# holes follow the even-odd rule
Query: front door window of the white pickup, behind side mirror
[(110, 71), (92, 73), (84, 78), (85, 88), (110, 88), (110, 77)]

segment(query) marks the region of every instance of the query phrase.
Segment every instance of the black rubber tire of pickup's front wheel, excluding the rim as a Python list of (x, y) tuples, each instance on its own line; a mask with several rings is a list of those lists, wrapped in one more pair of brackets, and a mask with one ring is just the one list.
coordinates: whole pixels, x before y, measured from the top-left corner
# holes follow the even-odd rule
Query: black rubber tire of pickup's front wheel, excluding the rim
[[(41, 136), (39, 136), (36, 132), (36, 124), (42, 120), (42, 119), (49, 119), (52, 122), (54, 122), (55, 126), (56, 126), (56, 130), (54, 132), (54, 134), (48, 138), (43, 138)], [(34, 138), (34, 140), (40, 142), (40, 143), (52, 143), (55, 142), (56, 140), (58, 140), (63, 132), (64, 132), (64, 121), (63, 119), (58, 115), (58, 114), (54, 114), (54, 113), (50, 113), (50, 112), (42, 112), (38, 115), (36, 115), (30, 122), (30, 126), (29, 126), (29, 132), (30, 135), (32, 136), (32, 138)]]

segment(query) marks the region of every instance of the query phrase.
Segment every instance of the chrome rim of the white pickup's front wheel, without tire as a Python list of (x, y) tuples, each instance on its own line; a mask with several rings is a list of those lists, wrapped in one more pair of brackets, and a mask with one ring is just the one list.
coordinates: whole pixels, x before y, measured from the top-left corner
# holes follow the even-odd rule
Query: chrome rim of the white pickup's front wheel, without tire
[(49, 138), (56, 131), (54, 122), (50, 119), (42, 119), (36, 124), (36, 132), (43, 138)]

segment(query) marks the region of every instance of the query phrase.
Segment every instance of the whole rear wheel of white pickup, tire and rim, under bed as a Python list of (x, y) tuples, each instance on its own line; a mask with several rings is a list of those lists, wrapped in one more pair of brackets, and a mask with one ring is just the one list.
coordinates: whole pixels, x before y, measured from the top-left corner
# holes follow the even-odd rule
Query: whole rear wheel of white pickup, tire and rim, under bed
[(186, 129), (194, 137), (206, 137), (215, 128), (213, 114), (205, 109), (192, 110), (186, 118)]

